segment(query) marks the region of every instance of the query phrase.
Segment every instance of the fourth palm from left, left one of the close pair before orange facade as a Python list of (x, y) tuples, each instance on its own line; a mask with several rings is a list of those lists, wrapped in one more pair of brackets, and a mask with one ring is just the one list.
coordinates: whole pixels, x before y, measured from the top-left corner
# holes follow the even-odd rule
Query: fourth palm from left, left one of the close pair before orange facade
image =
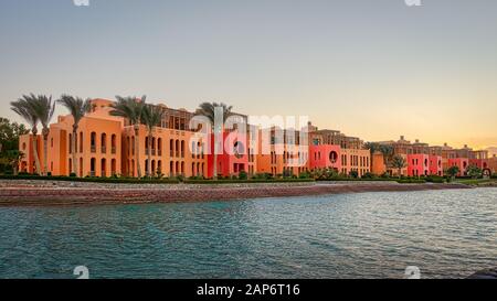
[(110, 111), (110, 115), (128, 119), (129, 123), (135, 129), (135, 162), (138, 178), (141, 179), (139, 132), (147, 96), (144, 95), (141, 98), (116, 96), (116, 99), (117, 103), (113, 104), (113, 110)]

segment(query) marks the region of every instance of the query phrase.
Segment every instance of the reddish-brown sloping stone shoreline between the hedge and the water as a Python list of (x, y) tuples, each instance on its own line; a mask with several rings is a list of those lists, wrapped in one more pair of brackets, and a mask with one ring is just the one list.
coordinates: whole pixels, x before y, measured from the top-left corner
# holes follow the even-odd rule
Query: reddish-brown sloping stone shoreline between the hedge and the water
[(149, 185), (15, 180), (0, 181), (0, 207), (184, 203), (457, 189), (474, 187), (464, 184), (395, 182)]

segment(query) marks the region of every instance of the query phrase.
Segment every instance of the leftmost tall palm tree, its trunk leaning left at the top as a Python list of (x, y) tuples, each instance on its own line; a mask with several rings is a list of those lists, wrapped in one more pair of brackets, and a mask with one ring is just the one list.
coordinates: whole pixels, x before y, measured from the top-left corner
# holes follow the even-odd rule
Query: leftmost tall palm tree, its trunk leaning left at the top
[(40, 122), (40, 118), (33, 109), (34, 99), (35, 97), (33, 97), (33, 95), (23, 95), (17, 101), (10, 103), (10, 105), (11, 109), (19, 116), (21, 116), (31, 127), (31, 133), (33, 136), (31, 142), (34, 155), (34, 165), (36, 169), (36, 173), (40, 173), (41, 165), (40, 157), (38, 154), (38, 122)]

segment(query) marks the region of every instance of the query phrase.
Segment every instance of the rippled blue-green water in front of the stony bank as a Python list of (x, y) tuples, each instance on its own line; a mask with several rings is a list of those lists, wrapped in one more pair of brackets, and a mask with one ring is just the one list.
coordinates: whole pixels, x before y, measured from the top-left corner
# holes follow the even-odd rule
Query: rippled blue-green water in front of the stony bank
[(497, 267), (497, 189), (0, 208), (0, 278), (464, 278)]

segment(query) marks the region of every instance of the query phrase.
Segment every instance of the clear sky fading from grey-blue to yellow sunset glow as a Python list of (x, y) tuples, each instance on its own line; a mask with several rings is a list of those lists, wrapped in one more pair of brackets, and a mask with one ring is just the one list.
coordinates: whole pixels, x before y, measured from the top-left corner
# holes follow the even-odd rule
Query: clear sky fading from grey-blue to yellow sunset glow
[[(309, 116), (366, 141), (497, 147), (497, 1), (2, 0), (0, 116), (23, 94)], [(57, 109), (57, 114), (65, 114)]]

